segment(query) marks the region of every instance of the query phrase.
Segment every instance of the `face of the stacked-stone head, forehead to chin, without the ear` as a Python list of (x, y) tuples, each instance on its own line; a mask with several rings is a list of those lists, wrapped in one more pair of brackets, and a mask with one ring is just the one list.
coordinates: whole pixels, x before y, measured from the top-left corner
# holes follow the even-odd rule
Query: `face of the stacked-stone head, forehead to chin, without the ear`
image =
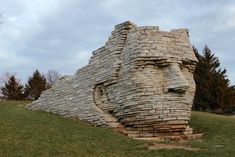
[[(196, 59), (189, 43), (185, 50), (176, 52), (177, 34), (175, 38), (166, 37), (165, 43), (158, 43), (163, 36), (167, 34), (157, 30), (137, 30), (130, 38), (138, 38), (138, 42), (127, 42), (124, 49), (126, 58), (119, 86), (125, 88), (121, 92), (126, 101), (119, 112), (122, 112), (120, 121), (126, 126), (157, 128), (162, 123), (180, 122), (184, 125), (181, 129), (185, 129), (190, 119)], [(188, 38), (187, 33), (184, 38)], [(159, 45), (162, 47), (156, 48)]]

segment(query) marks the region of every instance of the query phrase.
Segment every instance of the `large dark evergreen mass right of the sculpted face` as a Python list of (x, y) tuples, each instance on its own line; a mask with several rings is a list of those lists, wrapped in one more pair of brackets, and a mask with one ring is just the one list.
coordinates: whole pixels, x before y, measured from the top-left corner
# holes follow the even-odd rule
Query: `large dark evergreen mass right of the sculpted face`
[(225, 111), (234, 102), (234, 87), (229, 84), (226, 70), (220, 68), (218, 57), (212, 54), (207, 45), (202, 55), (196, 48), (193, 49), (198, 59), (194, 73), (196, 94), (193, 109)]

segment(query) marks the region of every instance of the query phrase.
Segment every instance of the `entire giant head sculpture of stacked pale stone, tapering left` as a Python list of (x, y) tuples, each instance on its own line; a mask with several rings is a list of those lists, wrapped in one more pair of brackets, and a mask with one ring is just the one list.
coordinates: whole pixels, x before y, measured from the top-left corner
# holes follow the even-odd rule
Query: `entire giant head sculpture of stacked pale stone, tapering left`
[(164, 32), (127, 21), (88, 65), (27, 108), (120, 127), (131, 137), (191, 135), (196, 62), (187, 29)]

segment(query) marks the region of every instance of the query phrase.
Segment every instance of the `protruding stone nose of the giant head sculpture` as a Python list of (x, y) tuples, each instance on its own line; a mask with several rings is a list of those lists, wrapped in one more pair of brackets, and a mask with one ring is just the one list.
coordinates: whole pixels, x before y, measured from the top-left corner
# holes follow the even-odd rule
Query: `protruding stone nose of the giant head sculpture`
[(165, 93), (185, 93), (188, 90), (189, 83), (178, 64), (172, 63), (165, 67), (164, 75), (166, 77)]

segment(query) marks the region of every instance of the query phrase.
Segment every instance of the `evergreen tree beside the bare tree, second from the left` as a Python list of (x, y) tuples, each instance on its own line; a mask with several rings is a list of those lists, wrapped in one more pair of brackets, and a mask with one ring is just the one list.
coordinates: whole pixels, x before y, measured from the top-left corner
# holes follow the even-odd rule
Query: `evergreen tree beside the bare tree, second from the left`
[(47, 82), (43, 74), (36, 70), (28, 79), (25, 85), (25, 94), (28, 99), (36, 100), (41, 95), (42, 91), (46, 90)]

